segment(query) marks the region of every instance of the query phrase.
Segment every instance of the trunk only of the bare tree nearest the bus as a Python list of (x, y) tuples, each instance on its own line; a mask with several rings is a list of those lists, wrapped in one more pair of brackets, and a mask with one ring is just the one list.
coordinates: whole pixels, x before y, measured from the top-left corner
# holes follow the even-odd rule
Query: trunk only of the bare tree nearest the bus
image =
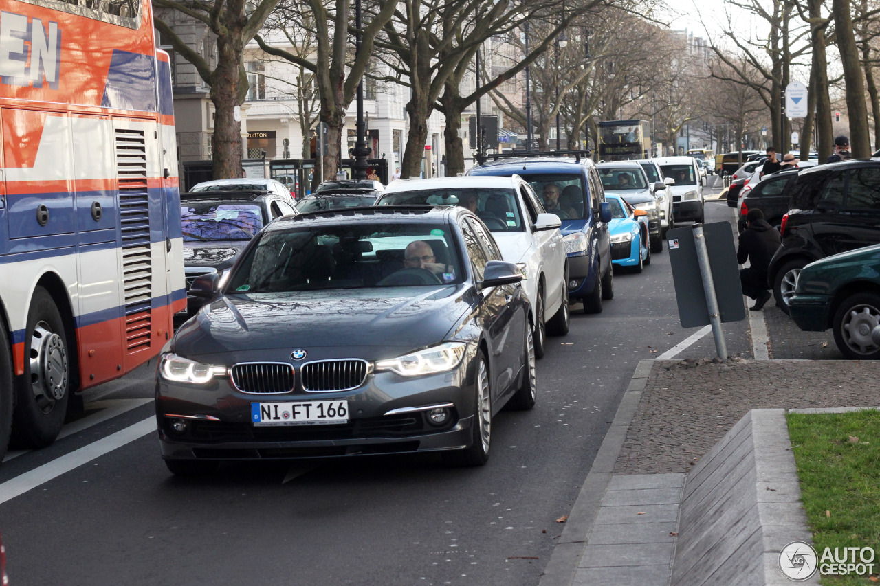
[(211, 83), (210, 98), (214, 103), (214, 135), (211, 136), (211, 159), (214, 179), (234, 179), (242, 176), (241, 115), (236, 120), (235, 109), (240, 106), (238, 94), (241, 81), (240, 43), (224, 37), (217, 38), (217, 67)]

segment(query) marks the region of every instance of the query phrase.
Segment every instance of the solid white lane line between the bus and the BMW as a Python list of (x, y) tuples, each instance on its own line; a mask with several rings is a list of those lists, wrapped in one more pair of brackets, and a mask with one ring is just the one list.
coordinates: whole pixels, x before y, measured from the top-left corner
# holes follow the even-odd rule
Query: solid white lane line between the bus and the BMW
[(55, 480), (64, 472), (70, 472), (81, 465), (88, 464), (95, 458), (100, 458), (126, 443), (134, 442), (136, 439), (151, 433), (156, 433), (155, 416), (135, 423), (126, 429), (121, 429), (113, 435), (99, 439), (97, 442), (90, 443), (79, 450), (71, 451), (61, 458), (55, 458), (48, 464), (34, 468), (30, 472), (25, 472), (12, 480), (7, 480), (0, 484), (0, 504), (10, 501), (19, 494), (24, 494), (35, 487), (39, 487), (49, 480)]

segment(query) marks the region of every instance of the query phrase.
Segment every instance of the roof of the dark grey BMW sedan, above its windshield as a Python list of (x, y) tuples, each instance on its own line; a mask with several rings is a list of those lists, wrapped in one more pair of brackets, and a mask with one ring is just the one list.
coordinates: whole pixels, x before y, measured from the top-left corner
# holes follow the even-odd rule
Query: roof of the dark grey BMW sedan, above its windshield
[[(461, 206), (370, 206), (363, 208), (323, 209), (298, 216), (282, 216), (265, 230), (286, 230), (310, 223), (452, 223), (461, 215), (474, 216)], [(474, 216), (476, 217), (476, 216)]]

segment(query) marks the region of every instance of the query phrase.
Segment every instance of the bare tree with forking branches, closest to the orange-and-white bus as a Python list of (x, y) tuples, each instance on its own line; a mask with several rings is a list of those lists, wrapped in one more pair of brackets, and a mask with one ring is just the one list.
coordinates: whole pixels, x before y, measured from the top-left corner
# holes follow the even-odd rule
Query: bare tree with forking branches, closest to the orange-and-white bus
[(241, 117), (236, 108), (247, 96), (243, 55), (247, 42), (263, 26), (278, 0), (154, 0), (154, 4), (194, 18), (216, 35), (217, 59), (211, 67), (208, 59), (181, 40), (165, 20), (159, 15), (153, 18), (159, 32), (171, 40), (174, 50), (195, 66), (211, 88), (209, 95), (216, 110), (211, 137), (215, 179), (240, 177)]

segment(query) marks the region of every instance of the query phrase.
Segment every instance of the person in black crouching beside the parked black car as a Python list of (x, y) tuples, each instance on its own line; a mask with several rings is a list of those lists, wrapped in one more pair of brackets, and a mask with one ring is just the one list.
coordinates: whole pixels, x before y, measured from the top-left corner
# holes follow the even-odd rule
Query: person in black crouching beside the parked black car
[(767, 267), (781, 238), (779, 231), (766, 222), (760, 209), (750, 209), (745, 220), (745, 230), (739, 235), (737, 262), (744, 264), (749, 260), (750, 266), (739, 269), (739, 282), (743, 285), (743, 294), (755, 300), (749, 309), (759, 311), (773, 297), (767, 290)]

